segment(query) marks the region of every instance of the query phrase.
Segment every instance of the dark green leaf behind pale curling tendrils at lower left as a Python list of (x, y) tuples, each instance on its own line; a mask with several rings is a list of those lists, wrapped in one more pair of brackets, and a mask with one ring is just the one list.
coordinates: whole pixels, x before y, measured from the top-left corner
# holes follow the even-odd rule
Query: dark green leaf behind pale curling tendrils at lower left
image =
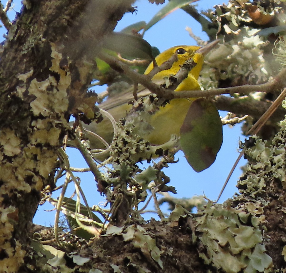
[[(62, 207), (65, 208), (67, 211), (75, 213), (75, 211), (76, 211), (76, 201), (71, 199), (71, 198), (68, 198), (68, 197), (63, 197), (63, 205), (62, 205)], [(65, 214), (65, 217), (67, 218), (67, 223), (68, 223), (69, 228), (71, 230), (73, 230), (76, 227), (79, 227), (79, 225), (78, 225), (78, 223), (76, 222), (76, 219), (75, 219), (76, 216), (73, 217), (73, 216), (67, 215), (67, 213), (65, 213), (65, 211), (62, 211), (62, 212)], [(80, 214), (89, 218), (87, 208), (83, 204), (80, 204)], [(102, 221), (98, 218), (98, 216), (96, 216), (93, 212), (92, 212), (92, 217), (93, 217), (94, 221), (96, 221), (98, 223), (102, 223)], [(90, 223), (85, 223), (85, 224), (86, 225), (91, 225)], [(95, 224), (95, 226), (100, 228), (100, 225), (96, 225)], [(78, 237), (82, 237), (82, 238), (86, 239), (87, 241), (90, 238), (94, 237), (94, 234), (91, 234), (91, 233), (89, 233), (88, 231), (86, 231), (84, 229), (78, 229), (75, 232), (75, 234)]]

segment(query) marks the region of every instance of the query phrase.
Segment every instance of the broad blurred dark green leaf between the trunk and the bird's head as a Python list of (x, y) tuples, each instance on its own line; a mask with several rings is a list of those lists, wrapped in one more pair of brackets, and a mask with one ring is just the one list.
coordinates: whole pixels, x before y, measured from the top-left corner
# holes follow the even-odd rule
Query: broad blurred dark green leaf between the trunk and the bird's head
[(118, 52), (127, 59), (152, 59), (151, 45), (146, 40), (130, 34), (113, 32), (104, 39), (102, 47)]

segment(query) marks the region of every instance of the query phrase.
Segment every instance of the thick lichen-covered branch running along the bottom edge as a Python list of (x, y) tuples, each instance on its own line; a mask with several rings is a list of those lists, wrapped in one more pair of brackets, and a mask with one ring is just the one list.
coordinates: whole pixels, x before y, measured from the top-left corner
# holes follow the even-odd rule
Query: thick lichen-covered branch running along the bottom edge
[[(273, 272), (272, 259), (265, 253), (258, 217), (242, 209), (208, 203), (194, 217), (177, 206), (169, 221), (109, 226), (106, 234), (90, 241), (73, 255), (88, 258), (73, 270), (108, 272)], [(251, 221), (249, 221), (251, 219)], [(68, 256), (47, 260), (63, 272), (69, 269)]]

